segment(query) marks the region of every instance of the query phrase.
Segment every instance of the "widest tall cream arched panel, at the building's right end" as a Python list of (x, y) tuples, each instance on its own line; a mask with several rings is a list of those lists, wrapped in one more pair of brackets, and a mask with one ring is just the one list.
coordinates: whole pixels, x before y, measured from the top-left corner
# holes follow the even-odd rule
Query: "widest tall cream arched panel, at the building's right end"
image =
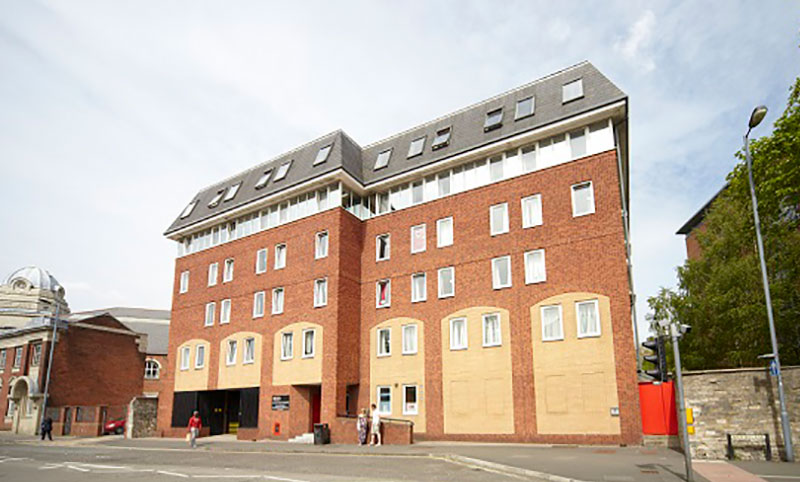
[[(575, 303), (597, 300), (600, 335), (578, 338)], [(563, 340), (542, 341), (541, 307), (561, 305)], [(565, 293), (531, 307), (536, 429), (540, 434), (620, 433), (616, 365), (607, 296)]]

